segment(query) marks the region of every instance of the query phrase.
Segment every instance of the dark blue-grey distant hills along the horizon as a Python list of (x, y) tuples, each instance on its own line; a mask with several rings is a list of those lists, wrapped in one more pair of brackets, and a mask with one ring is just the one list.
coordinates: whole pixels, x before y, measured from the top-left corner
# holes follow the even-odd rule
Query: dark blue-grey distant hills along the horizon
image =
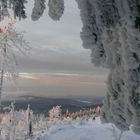
[[(26, 109), (28, 104), (31, 105), (31, 109), (35, 113), (46, 114), (53, 106), (60, 105), (62, 111), (65, 112), (67, 109), (70, 112), (78, 111), (83, 108), (94, 107), (102, 105), (101, 97), (92, 98), (45, 98), (45, 97), (33, 97), (33, 96), (22, 96), (16, 99), (16, 109)], [(3, 101), (3, 106), (8, 106), (13, 100)]]

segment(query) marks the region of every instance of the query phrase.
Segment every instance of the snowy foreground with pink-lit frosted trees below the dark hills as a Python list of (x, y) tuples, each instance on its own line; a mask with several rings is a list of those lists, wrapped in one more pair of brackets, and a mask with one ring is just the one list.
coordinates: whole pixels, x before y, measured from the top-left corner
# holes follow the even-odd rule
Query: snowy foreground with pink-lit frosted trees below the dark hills
[[(5, 113), (0, 113), (0, 140), (139, 140), (140, 136), (132, 131), (122, 133), (113, 124), (101, 124), (95, 117), (100, 107), (83, 109), (79, 112), (61, 114), (60, 106), (51, 111), (56, 117), (56, 123), (50, 116), (34, 114), (28, 105), (27, 110), (15, 109), (15, 103), (5, 107)], [(49, 111), (49, 112), (51, 112)], [(55, 112), (55, 113), (54, 113)], [(31, 114), (31, 116), (29, 115)], [(61, 114), (61, 115), (60, 115)], [(75, 116), (75, 117), (73, 117)], [(54, 118), (54, 117), (53, 117)], [(59, 119), (57, 119), (59, 118)], [(32, 133), (29, 126), (32, 122)]]

